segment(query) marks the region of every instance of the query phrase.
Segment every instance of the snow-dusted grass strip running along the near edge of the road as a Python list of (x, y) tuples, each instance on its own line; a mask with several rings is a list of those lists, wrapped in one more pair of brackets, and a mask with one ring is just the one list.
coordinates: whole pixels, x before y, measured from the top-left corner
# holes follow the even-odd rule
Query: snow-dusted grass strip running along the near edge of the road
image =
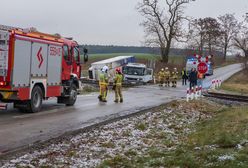
[[(2, 167), (96, 167), (126, 152), (142, 155), (151, 146), (173, 150), (179, 143), (179, 134), (187, 135), (192, 123), (211, 117), (185, 106), (160, 107), (110, 123), (8, 160)], [(165, 139), (171, 143), (161, 143)]]

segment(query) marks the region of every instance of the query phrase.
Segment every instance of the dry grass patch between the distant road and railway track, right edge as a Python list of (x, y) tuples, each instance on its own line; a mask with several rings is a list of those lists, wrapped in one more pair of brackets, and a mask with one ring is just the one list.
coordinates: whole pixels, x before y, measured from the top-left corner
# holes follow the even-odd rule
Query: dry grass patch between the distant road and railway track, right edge
[(229, 78), (222, 84), (221, 89), (240, 94), (248, 94), (247, 70), (243, 70), (233, 75), (231, 78)]

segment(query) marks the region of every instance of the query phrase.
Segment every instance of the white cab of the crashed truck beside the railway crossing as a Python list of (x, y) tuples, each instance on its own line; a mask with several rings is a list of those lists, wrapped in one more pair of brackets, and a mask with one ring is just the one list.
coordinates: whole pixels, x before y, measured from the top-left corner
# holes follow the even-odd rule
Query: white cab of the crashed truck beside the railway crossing
[(123, 67), (122, 72), (127, 82), (147, 83), (153, 79), (153, 69), (144, 64), (129, 63)]

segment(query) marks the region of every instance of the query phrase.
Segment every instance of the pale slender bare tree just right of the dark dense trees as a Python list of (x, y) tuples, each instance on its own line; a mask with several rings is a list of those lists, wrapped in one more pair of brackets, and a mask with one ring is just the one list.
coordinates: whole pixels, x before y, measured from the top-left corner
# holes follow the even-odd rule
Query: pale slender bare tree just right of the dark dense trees
[(218, 17), (220, 31), (222, 33), (220, 43), (223, 48), (224, 60), (226, 60), (227, 50), (231, 47), (231, 41), (239, 32), (238, 20), (234, 14), (225, 14)]

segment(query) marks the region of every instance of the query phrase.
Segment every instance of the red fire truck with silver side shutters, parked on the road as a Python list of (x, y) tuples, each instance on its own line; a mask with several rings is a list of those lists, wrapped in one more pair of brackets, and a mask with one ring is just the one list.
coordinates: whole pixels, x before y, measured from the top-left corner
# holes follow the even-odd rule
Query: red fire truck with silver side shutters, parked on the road
[(0, 27), (0, 100), (4, 107), (14, 103), (21, 111), (38, 112), (42, 101), (50, 97), (74, 105), (80, 64), (78, 44), (73, 40), (32, 29)]

